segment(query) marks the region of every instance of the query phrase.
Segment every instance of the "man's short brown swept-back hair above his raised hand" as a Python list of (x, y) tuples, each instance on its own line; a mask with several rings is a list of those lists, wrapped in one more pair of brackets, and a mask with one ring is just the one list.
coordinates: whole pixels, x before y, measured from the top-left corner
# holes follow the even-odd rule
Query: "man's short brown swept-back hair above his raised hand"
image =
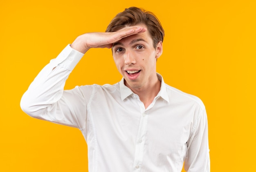
[(164, 29), (154, 13), (137, 7), (130, 7), (118, 13), (108, 25), (106, 32), (115, 32), (126, 26), (145, 24), (156, 48), (158, 42), (164, 41)]

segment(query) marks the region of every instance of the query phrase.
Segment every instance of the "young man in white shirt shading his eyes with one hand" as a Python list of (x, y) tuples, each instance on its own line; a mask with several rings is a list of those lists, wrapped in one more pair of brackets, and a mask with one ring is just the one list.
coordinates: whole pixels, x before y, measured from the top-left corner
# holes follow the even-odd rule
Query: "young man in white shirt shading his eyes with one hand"
[[(156, 72), (164, 29), (131, 7), (105, 33), (85, 33), (38, 74), (21, 108), (38, 119), (79, 128), (90, 172), (209, 172), (207, 115), (193, 95), (164, 83)], [(65, 80), (90, 48), (111, 48), (123, 78), (114, 85), (76, 86)]]

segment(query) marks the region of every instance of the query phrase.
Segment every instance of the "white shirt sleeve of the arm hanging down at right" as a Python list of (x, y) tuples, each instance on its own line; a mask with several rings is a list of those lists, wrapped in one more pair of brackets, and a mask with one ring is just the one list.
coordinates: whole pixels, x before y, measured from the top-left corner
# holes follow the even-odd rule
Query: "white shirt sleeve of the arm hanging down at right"
[(208, 123), (206, 110), (200, 109), (189, 138), (184, 169), (187, 172), (210, 172)]

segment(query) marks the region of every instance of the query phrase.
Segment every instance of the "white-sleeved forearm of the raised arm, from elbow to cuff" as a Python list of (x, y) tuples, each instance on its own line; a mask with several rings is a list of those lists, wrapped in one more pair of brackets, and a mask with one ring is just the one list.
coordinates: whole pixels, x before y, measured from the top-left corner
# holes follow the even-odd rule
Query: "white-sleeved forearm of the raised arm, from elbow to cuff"
[(82, 56), (68, 45), (56, 59), (51, 60), (22, 96), (22, 110), (32, 117), (41, 118), (38, 115), (61, 98), (65, 81)]

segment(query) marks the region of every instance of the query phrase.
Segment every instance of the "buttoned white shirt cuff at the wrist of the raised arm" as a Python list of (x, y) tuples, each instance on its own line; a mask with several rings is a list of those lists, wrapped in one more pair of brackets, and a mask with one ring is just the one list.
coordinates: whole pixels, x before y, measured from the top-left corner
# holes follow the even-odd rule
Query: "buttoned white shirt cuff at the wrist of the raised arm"
[(72, 71), (76, 64), (78, 64), (78, 62), (81, 60), (83, 55), (83, 53), (72, 49), (70, 44), (68, 44), (65, 49), (63, 49), (63, 51), (61, 51), (61, 53), (56, 57), (56, 59), (51, 61), (51, 63), (53, 63), (54, 66), (58, 65)]

